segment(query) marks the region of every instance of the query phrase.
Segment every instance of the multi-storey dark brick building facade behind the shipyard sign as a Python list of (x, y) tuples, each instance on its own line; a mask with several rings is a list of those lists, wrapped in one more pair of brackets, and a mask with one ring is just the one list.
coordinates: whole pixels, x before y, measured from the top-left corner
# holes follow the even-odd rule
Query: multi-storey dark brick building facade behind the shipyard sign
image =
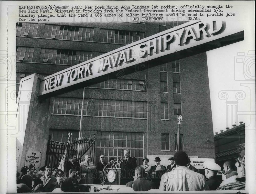
[[(74, 64), (177, 26), (166, 23), (17, 23), (16, 90), (32, 73), (47, 76)], [(54, 97), (51, 138), (79, 136), (83, 89)], [(183, 115), (184, 151), (194, 158), (215, 158), (206, 52), (141, 70), (85, 90), (82, 136), (96, 134), (99, 155), (122, 157), (129, 148), (137, 164), (175, 153), (177, 118)], [(209, 142), (206, 142), (209, 139)]]

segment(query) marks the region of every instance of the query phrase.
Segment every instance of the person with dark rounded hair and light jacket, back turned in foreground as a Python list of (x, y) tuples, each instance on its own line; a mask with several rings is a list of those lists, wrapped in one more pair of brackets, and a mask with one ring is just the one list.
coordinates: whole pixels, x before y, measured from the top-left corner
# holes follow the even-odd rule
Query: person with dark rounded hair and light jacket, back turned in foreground
[(176, 168), (161, 177), (160, 191), (201, 191), (209, 190), (204, 175), (187, 167), (188, 155), (183, 151), (174, 154)]

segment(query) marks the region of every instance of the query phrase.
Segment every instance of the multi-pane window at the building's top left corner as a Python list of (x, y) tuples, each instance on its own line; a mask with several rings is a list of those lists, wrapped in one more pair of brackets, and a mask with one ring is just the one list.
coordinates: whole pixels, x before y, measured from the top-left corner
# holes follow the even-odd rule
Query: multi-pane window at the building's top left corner
[(35, 23), (16, 23), (16, 36), (36, 37), (38, 24)]

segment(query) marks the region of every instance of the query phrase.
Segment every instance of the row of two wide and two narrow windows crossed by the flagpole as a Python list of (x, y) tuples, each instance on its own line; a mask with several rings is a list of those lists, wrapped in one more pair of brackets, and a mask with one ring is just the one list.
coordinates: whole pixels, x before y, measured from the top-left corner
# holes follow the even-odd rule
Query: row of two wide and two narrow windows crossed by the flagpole
[[(87, 115), (88, 99), (84, 99), (83, 115)], [(82, 99), (55, 97), (52, 114), (81, 115)], [(174, 118), (181, 115), (181, 104), (174, 104)], [(94, 116), (147, 118), (147, 102), (95, 100)], [(161, 119), (168, 119), (168, 103), (161, 103)]]

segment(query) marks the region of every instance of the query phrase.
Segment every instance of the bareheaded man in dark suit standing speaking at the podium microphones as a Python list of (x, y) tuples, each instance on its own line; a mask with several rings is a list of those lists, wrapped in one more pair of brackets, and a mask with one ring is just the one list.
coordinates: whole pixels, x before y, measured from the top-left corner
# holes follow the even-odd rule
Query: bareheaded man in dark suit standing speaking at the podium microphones
[(126, 185), (127, 182), (133, 180), (135, 176), (135, 168), (137, 167), (135, 158), (130, 157), (130, 150), (124, 150), (125, 160), (120, 164), (121, 168), (121, 185)]

